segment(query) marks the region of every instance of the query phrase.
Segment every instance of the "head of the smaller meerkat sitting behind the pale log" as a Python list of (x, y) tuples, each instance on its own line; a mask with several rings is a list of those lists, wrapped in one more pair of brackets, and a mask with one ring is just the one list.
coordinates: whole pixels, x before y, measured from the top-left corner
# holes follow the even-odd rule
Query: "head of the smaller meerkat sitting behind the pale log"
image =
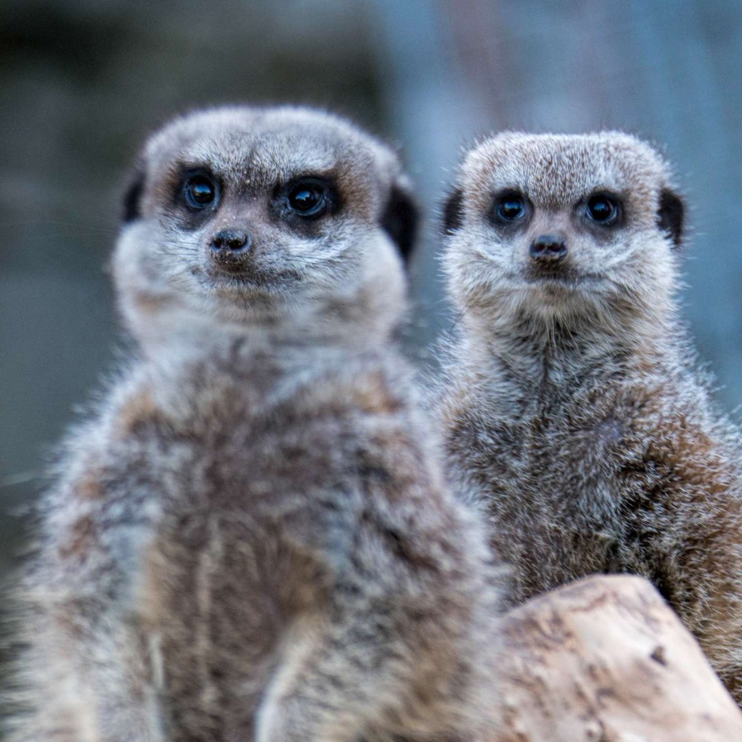
[(459, 308), (486, 321), (625, 318), (674, 286), (683, 204), (626, 134), (502, 134), (464, 160), (445, 211)]

